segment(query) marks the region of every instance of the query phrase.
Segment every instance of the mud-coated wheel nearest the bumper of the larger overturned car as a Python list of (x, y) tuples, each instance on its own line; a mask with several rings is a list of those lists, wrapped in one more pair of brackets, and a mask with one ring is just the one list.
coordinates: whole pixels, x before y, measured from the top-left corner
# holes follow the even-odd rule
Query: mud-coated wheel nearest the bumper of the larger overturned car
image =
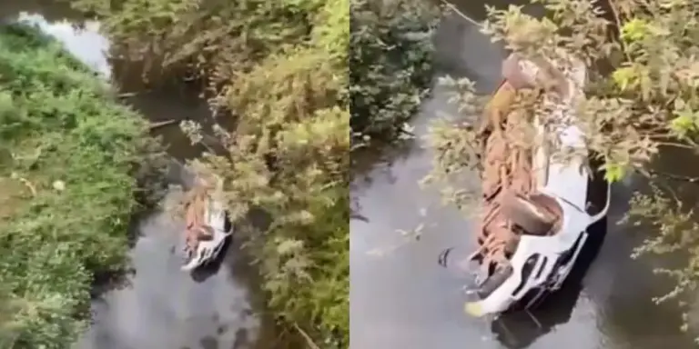
[(519, 225), (527, 234), (549, 234), (555, 224), (551, 215), (542, 207), (517, 194), (505, 195), (501, 200), (501, 208), (512, 224)]

